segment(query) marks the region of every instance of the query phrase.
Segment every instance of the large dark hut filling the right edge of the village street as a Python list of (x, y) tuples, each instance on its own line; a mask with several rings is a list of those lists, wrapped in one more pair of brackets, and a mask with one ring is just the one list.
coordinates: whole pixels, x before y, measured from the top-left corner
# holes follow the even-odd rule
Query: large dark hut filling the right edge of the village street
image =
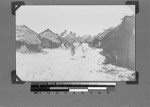
[(125, 16), (101, 40), (107, 63), (135, 70), (135, 16)]

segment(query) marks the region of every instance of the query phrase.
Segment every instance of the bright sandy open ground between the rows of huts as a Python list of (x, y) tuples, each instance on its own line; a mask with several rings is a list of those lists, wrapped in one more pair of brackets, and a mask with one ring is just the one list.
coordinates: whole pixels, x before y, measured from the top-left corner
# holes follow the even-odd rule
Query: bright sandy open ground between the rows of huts
[[(44, 49), (43, 53), (16, 52), (16, 71), (23, 81), (129, 81), (134, 71), (104, 65), (102, 49), (77, 48), (72, 56), (68, 49)], [(85, 56), (85, 57), (84, 57)]]

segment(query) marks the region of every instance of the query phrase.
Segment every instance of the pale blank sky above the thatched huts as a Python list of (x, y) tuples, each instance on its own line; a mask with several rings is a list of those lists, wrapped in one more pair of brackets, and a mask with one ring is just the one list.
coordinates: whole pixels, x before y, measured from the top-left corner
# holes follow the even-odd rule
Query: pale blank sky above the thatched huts
[(16, 24), (37, 33), (50, 29), (60, 34), (65, 29), (77, 35), (96, 35), (115, 27), (126, 15), (133, 15), (134, 5), (28, 5), (16, 12)]

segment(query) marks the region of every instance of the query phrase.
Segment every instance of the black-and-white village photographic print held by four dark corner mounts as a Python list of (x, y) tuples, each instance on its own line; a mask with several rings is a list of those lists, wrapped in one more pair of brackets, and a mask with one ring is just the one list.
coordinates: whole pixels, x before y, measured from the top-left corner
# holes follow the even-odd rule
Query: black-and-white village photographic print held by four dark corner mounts
[(16, 73), (23, 81), (135, 81), (135, 6), (21, 6)]

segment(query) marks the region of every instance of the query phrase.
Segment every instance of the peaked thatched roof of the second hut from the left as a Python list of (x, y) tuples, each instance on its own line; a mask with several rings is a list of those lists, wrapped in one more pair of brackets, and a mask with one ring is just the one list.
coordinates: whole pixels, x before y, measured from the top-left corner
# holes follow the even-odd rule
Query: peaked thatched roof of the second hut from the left
[(48, 39), (49, 41), (52, 41), (54, 43), (60, 43), (60, 41), (58, 39), (59, 37), (49, 29), (46, 29), (45, 31), (40, 33), (39, 36), (41, 38)]

